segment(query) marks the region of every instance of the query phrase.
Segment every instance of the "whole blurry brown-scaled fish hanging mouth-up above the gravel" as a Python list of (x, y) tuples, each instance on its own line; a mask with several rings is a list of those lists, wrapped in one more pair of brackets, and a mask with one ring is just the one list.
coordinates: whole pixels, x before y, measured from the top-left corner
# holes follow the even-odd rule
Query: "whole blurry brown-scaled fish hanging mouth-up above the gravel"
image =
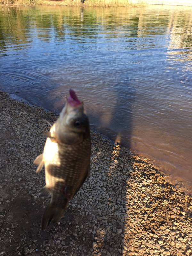
[(45, 170), (45, 186), (40, 196), (51, 196), (42, 217), (42, 230), (63, 217), (69, 201), (90, 175), (89, 119), (75, 91), (69, 90), (66, 104), (46, 136), (43, 153), (34, 160), (38, 165), (36, 173), (43, 166)]

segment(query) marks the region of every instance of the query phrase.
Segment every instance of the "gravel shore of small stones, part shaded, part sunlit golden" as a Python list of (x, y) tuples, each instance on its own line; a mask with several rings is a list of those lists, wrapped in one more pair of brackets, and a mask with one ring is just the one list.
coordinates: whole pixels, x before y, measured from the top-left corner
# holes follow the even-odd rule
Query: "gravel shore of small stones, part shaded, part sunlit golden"
[(57, 116), (0, 92), (0, 255), (192, 255), (192, 197), (153, 166), (92, 132), (91, 175), (59, 223), (41, 231), (48, 125)]

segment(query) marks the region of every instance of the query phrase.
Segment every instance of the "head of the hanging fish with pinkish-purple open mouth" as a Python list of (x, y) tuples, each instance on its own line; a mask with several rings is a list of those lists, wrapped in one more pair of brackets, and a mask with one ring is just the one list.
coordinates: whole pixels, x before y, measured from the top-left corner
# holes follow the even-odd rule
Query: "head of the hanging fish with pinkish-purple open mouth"
[(82, 141), (90, 134), (89, 120), (84, 113), (84, 104), (73, 90), (58, 119), (57, 135), (62, 143), (73, 144)]

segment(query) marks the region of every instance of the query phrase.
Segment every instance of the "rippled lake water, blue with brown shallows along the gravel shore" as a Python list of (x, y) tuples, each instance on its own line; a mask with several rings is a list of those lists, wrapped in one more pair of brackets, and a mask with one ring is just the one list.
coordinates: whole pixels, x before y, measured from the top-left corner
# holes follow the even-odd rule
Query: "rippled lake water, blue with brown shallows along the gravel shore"
[(0, 88), (91, 124), (192, 184), (192, 8), (0, 7)]

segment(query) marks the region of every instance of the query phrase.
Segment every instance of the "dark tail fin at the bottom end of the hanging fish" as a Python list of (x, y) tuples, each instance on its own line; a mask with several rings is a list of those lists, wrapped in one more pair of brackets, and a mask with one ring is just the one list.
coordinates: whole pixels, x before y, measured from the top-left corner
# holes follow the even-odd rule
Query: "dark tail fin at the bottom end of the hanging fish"
[(65, 199), (65, 204), (62, 204), (62, 206), (56, 206), (54, 204), (49, 204), (43, 214), (43, 218), (41, 220), (41, 229), (47, 228), (47, 226), (50, 224), (51, 221), (57, 222), (59, 221), (67, 208), (69, 200)]

